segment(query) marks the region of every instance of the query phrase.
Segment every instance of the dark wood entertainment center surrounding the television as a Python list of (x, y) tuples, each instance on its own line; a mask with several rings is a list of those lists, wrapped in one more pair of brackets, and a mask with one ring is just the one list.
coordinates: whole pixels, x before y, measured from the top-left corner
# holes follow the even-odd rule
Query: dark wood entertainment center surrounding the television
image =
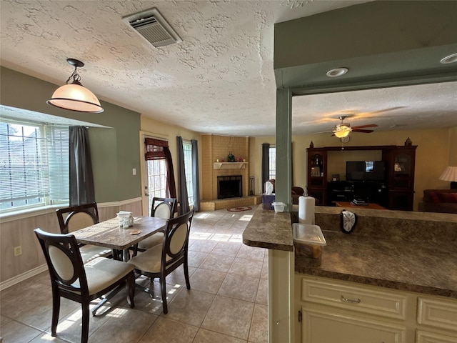
[[(332, 206), (340, 199), (351, 201), (351, 197), (365, 194), (366, 198), (388, 209), (413, 210), (414, 169), (417, 146), (345, 146), (346, 151), (381, 150), (386, 168), (383, 182), (330, 182), (328, 176), (328, 151), (341, 150), (341, 146), (306, 149), (308, 159), (307, 193), (316, 198), (316, 204)], [(354, 191), (355, 187), (355, 191)]]

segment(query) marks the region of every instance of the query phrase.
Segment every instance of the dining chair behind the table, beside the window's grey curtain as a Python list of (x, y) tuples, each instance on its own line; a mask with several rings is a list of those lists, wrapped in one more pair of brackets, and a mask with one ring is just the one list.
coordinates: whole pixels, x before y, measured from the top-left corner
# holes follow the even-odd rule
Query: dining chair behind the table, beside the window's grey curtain
[[(96, 202), (56, 210), (61, 234), (69, 234), (84, 227), (99, 223), (99, 209)], [(81, 257), (86, 263), (96, 257), (112, 257), (113, 251), (106, 247), (79, 244)], [(117, 253), (117, 252), (116, 252)]]

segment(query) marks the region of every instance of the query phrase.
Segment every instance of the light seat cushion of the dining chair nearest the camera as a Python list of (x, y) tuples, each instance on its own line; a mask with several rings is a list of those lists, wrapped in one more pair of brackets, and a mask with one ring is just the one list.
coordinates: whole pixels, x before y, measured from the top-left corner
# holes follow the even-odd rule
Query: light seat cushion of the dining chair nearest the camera
[[(134, 270), (134, 266), (116, 259), (97, 257), (84, 264), (84, 270), (86, 271), (89, 295), (91, 295), (125, 277)], [(78, 283), (76, 282), (75, 284), (79, 287)]]

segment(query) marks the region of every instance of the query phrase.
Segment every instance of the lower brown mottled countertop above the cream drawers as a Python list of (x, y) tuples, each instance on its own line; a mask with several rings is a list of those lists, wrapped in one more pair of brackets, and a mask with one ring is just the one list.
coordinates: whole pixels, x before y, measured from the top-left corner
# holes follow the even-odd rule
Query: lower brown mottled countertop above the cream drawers
[(296, 253), (295, 272), (457, 298), (457, 242), (367, 239), (323, 231), (321, 266)]

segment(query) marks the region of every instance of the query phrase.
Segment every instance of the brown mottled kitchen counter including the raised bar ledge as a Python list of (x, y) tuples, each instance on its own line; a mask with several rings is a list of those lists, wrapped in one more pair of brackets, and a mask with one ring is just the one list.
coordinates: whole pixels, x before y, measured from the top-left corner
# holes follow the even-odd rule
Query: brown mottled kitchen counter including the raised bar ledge
[[(316, 224), (327, 241), (321, 266), (298, 249), (296, 273), (457, 298), (456, 215), (361, 209), (354, 232), (343, 234), (334, 222), (339, 212), (316, 207)], [(260, 206), (243, 233), (243, 243), (292, 251), (295, 217), (293, 212), (275, 213)]]

